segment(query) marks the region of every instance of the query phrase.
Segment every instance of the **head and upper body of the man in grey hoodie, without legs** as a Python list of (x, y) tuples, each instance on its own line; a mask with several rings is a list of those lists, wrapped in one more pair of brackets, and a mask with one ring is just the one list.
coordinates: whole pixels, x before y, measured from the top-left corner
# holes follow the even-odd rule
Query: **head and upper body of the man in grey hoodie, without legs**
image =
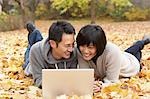
[(70, 23), (57, 21), (49, 28), (48, 38), (31, 47), (29, 62), (36, 86), (42, 88), (42, 69), (77, 68), (74, 36)]

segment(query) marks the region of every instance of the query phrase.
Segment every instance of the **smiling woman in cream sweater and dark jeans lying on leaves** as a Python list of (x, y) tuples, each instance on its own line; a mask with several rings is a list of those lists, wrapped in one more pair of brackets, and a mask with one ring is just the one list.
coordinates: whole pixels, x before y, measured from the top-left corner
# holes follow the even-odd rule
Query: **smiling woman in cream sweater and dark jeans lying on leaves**
[(79, 31), (76, 41), (80, 68), (94, 68), (96, 79), (115, 83), (120, 77), (131, 77), (140, 71), (141, 50), (150, 43), (150, 36), (122, 52), (106, 40), (100, 26), (86, 25)]

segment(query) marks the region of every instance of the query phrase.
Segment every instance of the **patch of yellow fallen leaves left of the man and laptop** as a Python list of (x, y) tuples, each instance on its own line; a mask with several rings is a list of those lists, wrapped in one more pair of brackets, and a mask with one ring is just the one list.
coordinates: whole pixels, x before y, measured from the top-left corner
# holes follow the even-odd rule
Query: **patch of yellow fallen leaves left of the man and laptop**
[(0, 99), (41, 99), (41, 90), (22, 70), (27, 42), (20, 32), (0, 33)]

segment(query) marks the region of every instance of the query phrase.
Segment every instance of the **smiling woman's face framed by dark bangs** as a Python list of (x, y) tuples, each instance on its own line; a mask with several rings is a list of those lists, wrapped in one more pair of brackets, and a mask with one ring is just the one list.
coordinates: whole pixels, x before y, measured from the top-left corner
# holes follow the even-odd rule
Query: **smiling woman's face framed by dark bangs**
[(96, 47), (93, 44), (79, 46), (80, 52), (84, 60), (91, 60), (96, 55)]

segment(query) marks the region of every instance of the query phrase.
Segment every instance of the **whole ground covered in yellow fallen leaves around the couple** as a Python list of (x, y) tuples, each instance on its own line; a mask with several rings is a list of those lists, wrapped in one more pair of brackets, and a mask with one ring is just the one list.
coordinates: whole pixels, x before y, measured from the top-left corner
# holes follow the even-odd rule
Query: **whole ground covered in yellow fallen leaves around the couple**
[[(52, 21), (37, 21), (36, 26), (47, 36)], [(77, 32), (89, 21), (71, 21)], [(150, 34), (150, 22), (99, 22), (106, 32), (107, 39), (125, 50), (144, 34)], [(23, 56), (27, 46), (25, 29), (0, 32), (0, 99), (42, 99), (42, 91), (33, 85), (31, 78), (22, 70)], [(130, 79), (105, 87), (95, 93), (93, 99), (150, 98), (150, 44), (145, 46), (141, 64), (142, 71)], [(64, 99), (62, 96), (61, 99)], [(92, 99), (90, 96), (70, 96), (69, 99)]]

